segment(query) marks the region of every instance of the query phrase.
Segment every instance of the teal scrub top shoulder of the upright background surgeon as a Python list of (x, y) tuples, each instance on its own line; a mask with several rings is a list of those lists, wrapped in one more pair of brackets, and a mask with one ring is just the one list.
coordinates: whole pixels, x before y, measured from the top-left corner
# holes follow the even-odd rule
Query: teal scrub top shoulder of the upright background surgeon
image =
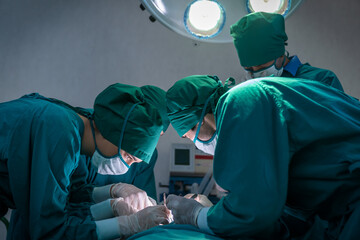
[(284, 67), (281, 77), (314, 80), (344, 91), (335, 73), (327, 69), (313, 67), (309, 63), (302, 64), (296, 55), (290, 57), (290, 62)]

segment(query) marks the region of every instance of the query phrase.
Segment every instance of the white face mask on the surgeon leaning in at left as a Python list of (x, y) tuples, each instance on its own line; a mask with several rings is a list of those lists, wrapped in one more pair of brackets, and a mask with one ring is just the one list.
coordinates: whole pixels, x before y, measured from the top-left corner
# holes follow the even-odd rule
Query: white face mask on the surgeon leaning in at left
[(128, 165), (120, 159), (119, 155), (107, 158), (98, 150), (95, 150), (91, 163), (97, 168), (97, 172), (103, 175), (122, 175), (129, 170)]

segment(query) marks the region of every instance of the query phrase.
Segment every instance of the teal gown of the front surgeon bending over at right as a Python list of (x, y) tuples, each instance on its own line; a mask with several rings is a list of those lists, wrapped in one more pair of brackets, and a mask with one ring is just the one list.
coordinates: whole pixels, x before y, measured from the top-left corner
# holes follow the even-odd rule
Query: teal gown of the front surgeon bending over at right
[(276, 239), (285, 204), (327, 220), (356, 212), (357, 99), (316, 81), (260, 78), (225, 93), (215, 119), (214, 178), (228, 191), (208, 212), (217, 235)]

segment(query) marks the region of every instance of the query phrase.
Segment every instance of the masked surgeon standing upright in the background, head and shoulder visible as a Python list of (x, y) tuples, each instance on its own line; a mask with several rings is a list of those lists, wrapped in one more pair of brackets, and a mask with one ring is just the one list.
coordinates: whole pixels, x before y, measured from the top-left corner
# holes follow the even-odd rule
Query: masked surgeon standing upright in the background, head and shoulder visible
[(241, 18), (230, 27), (246, 79), (258, 77), (304, 78), (328, 84), (336, 89), (343, 87), (330, 70), (301, 63), (294, 55), (285, 55), (288, 37), (284, 17), (276, 13), (256, 12)]

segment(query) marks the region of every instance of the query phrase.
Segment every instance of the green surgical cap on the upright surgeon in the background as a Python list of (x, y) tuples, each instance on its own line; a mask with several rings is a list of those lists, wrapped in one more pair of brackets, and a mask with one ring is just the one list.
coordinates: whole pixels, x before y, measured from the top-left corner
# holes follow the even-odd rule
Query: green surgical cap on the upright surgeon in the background
[(284, 17), (280, 14), (255, 12), (241, 18), (230, 27), (240, 64), (258, 66), (285, 53)]

